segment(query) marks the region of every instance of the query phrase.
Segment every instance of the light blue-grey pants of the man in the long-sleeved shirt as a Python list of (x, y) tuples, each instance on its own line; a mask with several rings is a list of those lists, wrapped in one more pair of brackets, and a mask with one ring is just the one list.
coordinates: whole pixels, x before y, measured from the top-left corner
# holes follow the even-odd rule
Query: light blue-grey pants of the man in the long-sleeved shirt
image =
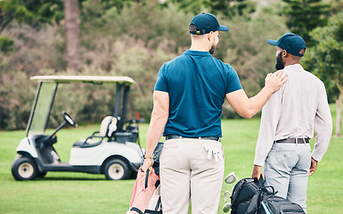
[(309, 144), (275, 143), (265, 159), (266, 185), (306, 211), (306, 191), (311, 147)]

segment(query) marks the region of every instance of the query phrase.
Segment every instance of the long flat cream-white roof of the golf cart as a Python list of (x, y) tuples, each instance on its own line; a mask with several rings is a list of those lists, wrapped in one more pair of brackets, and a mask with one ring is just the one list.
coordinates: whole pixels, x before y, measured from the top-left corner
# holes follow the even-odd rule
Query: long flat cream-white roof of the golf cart
[(135, 84), (135, 80), (129, 77), (114, 77), (114, 76), (35, 76), (31, 80), (38, 82), (55, 82), (55, 83), (114, 83), (118, 82), (125, 85)]

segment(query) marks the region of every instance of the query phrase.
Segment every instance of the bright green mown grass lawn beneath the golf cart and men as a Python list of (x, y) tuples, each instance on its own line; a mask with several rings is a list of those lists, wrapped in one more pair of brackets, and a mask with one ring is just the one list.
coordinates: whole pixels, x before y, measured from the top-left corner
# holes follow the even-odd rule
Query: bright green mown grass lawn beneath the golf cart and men
[[(55, 144), (62, 161), (69, 160), (71, 145), (91, 135), (99, 126), (65, 128)], [(140, 127), (145, 147), (147, 124)], [(257, 141), (259, 119), (223, 121), (225, 175), (234, 171), (237, 177), (250, 177)], [(0, 132), (0, 213), (125, 213), (135, 180), (108, 181), (103, 175), (72, 172), (48, 172), (34, 181), (15, 181), (11, 174), (15, 149), (25, 131)], [(343, 137), (331, 138), (323, 161), (309, 178), (307, 212), (343, 213)], [(312, 141), (313, 147), (313, 141)], [(218, 213), (224, 206), (224, 193), (233, 185), (223, 185)]]

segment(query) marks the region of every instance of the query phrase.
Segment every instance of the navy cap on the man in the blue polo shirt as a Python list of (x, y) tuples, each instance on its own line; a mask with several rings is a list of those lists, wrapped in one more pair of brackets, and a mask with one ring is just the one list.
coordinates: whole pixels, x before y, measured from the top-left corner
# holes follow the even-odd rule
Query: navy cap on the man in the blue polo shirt
[(202, 12), (201, 14), (198, 14), (194, 16), (194, 18), (191, 21), (191, 25), (195, 26), (194, 31), (192, 31), (192, 28), (190, 29), (191, 34), (197, 34), (197, 35), (203, 35), (208, 34), (211, 31), (228, 31), (229, 28), (227, 28), (224, 25), (219, 25), (219, 22), (216, 20), (216, 16), (214, 16), (211, 13), (205, 13)]

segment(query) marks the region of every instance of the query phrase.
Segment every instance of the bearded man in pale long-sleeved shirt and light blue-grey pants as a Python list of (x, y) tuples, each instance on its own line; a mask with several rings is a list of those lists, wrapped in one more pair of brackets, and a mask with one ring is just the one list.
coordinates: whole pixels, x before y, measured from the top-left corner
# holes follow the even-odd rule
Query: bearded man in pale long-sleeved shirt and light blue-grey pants
[[(252, 177), (265, 176), (278, 194), (298, 203), (306, 211), (307, 179), (322, 161), (332, 133), (331, 111), (325, 86), (299, 64), (306, 45), (302, 37), (288, 33), (276, 46), (276, 70), (284, 70), (288, 81), (262, 110)], [(314, 136), (311, 154), (309, 139)], [(264, 174), (261, 173), (264, 166)]]

